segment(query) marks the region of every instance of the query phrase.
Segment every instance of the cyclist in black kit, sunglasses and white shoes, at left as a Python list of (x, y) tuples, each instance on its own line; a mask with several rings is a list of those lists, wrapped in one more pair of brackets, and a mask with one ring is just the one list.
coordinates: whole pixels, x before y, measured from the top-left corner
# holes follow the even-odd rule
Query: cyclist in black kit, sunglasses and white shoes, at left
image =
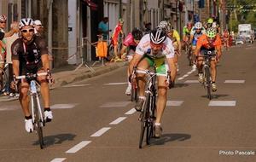
[[(43, 38), (34, 34), (33, 20), (30, 18), (21, 19), (19, 24), (21, 37), (16, 39), (11, 46), (12, 61), (14, 75), (25, 75), (28, 73), (48, 72), (49, 57), (47, 43)], [(41, 94), (44, 99), (44, 119), (46, 122), (53, 119), (52, 112), (49, 108), (49, 85), (48, 77), (38, 77), (38, 82), (41, 85)], [(15, 87), (17, 82), (12, 82), (12, 87)], [(27, 132), (33, 131), (32, 116), (29, 112), (29, 84), (26, 79), (21, 79), (19, 83), (20, 104), (25, 115), (25, 129)]]

